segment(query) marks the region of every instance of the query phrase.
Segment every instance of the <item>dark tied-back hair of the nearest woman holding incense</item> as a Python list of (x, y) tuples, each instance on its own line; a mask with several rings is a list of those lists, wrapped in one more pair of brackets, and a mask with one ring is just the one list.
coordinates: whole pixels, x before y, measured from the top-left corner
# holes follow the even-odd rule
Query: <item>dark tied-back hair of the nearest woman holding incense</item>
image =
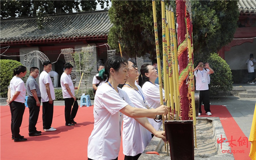
[(114, 68), (115, 71), (118, 71), (122, 63), (126, 65), (128, 64), (128, 61), (124, 57), (120, 57), (120, 56), (112, 56), (108, 58), (108, 60), (105, 63), (105, 69), (100, 70), (99, 76), (96, 76), (96, 78), (100, 81), (107, 80), (109, 78), (110, 68)]

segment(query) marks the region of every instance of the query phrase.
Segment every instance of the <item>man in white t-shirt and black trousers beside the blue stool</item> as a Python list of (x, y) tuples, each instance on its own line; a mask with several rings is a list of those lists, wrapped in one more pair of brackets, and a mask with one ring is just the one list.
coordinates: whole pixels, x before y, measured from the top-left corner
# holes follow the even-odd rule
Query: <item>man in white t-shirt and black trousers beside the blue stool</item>
[(74, 84), (70, 77), (70, 73), (72, 72), (73, 66), (70, 63), (66, 63), (64, 69), (65, 70), (60, 77), (60, 85), (62, 89), (63, 98), (65, 101), (65, 121), (67, 126), (74, 126), (76, 124), (74, 118), (76, 117), (76, 113), (78, 110), (75, 89), (77, 89), (78, 87), (74, 87)]

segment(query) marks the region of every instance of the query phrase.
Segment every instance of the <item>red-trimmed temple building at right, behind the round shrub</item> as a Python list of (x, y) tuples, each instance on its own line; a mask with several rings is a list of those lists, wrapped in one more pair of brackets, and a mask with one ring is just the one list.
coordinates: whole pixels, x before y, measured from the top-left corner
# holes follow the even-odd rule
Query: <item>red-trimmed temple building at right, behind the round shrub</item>
[[(240, 16), (234, 39), (218, 53), (228, 63), (233, 82), (247, 83), (248, 70), (245, 62), (250, 54), (256, 59), (256, 0), (239, 0), (238, 9)], [(256, 71), (254, 74), (256, 77)]]

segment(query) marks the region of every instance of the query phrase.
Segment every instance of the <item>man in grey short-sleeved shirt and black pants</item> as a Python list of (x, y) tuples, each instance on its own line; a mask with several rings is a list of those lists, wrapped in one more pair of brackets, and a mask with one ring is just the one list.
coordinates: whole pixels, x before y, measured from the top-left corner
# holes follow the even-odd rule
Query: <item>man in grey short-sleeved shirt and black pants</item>
[(39, 69), (37, 67), (30, 68), (30, 75), (26, 82), (27, 94), (28, 94), (28, 108), (29, 108), (29, 125), (28, 125), (28, 135), (41, 136), (41, 131), (36, 130), (36, 123), (38, 120), (38, 115), (40, 111), (41, 104), (41, 92), (38, 84), (36, 83), (36, 77), (39, 74)]

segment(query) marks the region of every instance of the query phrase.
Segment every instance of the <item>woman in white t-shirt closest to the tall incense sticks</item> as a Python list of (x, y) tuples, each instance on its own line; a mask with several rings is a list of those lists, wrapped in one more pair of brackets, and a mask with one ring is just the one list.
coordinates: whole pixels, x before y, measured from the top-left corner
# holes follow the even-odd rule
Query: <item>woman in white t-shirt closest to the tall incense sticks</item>
[[(140, 69), (139, 85), (142, 87), (145, 100), (147, 100), (150, 108), (158, 108), (160, 106), (160, 92), (159, 85), (155, 84), (158, 77), (157, 71), (154, 66), (150, 64), (143, 64)], [(164, 89), (163, 89), (164, 100)], [(157, 118), (158, 119), (158, 118)], [(149, 123), (158, 130), (163, 124), (162, 120), (148, 119)], [(152, 134), (152, 137), (154, 135)]]

